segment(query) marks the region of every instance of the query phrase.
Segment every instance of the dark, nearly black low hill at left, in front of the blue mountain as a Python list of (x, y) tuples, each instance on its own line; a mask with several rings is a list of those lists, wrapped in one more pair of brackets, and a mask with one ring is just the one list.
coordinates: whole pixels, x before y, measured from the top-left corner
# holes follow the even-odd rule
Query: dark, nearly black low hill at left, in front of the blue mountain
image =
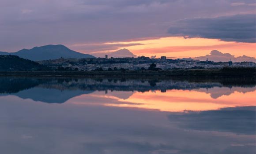
[(0, 71), (47, 70), (37, 62), (20, 58), (16, 55), (0, 55)]

